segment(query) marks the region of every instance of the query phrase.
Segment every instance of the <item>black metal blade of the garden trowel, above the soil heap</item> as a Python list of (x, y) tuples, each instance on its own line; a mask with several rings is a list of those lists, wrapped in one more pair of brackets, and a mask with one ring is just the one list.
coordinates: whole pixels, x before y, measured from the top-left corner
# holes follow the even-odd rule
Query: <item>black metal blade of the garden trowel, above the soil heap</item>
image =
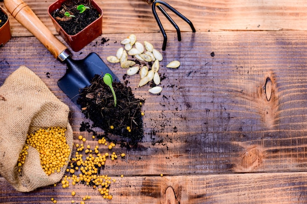
[(78, 95), (84, 87), (91, 85), (91, 79), (95, 75), (108, 73), (113, 77), (113, 81), (120, 82), (118, 77), (114, 75), (110, 68), (94, 52), (81, 60), (74, 60), (68, 57), (66, 64), (66, 73), (58, 80), (57, 84), (79, 108), (80, 105), (77, 104)]

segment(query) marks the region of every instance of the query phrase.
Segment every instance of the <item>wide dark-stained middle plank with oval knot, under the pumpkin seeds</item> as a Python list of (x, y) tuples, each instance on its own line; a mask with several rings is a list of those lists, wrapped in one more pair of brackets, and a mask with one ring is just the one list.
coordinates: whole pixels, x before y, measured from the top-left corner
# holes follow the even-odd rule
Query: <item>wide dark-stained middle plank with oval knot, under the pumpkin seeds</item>
[[(115, 54), (125, 37), (103, 35), (74, 57), (84, 58), (95, 51), (105, 59)], [(137, 37), (160, 46), (159, 33)], [(102, 38), (108, 42), (102, 44)], [(145, 137), (136, 150), (118, 148), (127, 153), (126, 160), (106, 166), (105, 173), (305, 171), (306, 39), (303, 31), (184, 33), (180, 43), (170, 35), (160, 63), (160, 74), (166, 77), (161, 82), (162, 94), (149, 94), (149, 86), (136, 88), (136, 76), (126, 79), (135, 96), (146, 99)], [(13, 38), (0, 49), (0, 56), (0, 83), (26, 65), (70, 106), (75, 136), (84, 134), (92, 140), (90, 134), (79, 132), (84, 116), (57, 87), (65, 65), (33, 37)], [(175, 59), (181, 61), (179, 69), (167, 69), (165, 65)], [(120, 78), (126, 72), (119, 64), (107, 64)], [(268, 78), (272, 84), (270, 101), (264, 89)]]

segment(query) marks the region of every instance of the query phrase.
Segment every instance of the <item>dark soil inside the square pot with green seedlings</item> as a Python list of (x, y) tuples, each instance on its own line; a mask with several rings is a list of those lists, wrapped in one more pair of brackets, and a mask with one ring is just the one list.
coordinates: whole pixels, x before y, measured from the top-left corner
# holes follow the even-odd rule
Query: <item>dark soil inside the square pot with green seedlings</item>
[[(90, 7), (90, 9), (79, 13), (77, 6), (80, 4)], [(69, 12), (75, 17), (67, 17), (64, 15), (65, 12)], [(99, 12), (90, 4), (89, 0), (67, 0), (63, 2), (59, 9), (53, 11), (51, 15), (69, 35), (76, 35), (100, 17)]]

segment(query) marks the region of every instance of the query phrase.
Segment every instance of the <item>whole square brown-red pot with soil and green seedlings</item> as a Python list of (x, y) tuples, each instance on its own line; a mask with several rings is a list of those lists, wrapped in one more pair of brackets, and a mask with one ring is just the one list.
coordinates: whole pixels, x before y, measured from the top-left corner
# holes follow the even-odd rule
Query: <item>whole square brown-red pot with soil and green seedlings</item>
[[(76, 18), (63, 16), (65, 11)], [(56, 0), (48, 13), (55, 30), (73, 51), (80, 51), (102, 34), (102, 9), (94, 0)]]

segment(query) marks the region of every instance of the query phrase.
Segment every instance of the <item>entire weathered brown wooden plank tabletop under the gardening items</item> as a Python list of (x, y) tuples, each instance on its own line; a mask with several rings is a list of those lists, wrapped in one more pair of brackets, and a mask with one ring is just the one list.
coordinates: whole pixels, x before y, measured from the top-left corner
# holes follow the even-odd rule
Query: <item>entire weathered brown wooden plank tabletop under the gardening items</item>
[[(145, 1), (96, 1), (104, 12), (103, 34), (74, 58), (93, 51), (105, 60), (131, 33), (161, 51), (163, 38)], [(56, 34), (47, 13), (52, 2), (26, 0)], [(0, 203), (49, 204), (51, 197), (80, 203), (82, 195), (95, 204), (307, 203), (306, 1), (167, 2), (193, 22), (196, 33), (174, 17), (182, 32), (178, 42), (160, 14), (168, 35), (164, 89), (152, 95), (148, 87), (136, 88), (136, 77), (128, 78), (135, 96), (146, 99), (145, 137), (137, 149), (114, 148), (127, 155), (108, 162), (102, 173), (117, 179), (110, 187), (113, 199), (82, 184), (21, 193), (0, 177)], [(26, 65), (69, 105), (75, 143), (79, 134), (92, 140), (79, 131), (84, 116), (56, 84), (66, 66), (12, 17), (10, 23), (13, 38), (0, 49), (0, 83)], [(179, 69), (165, 67), (172, 60), (181, 62)], [(126, 72), (118, 64), (108, 66), (118, 76)], [(73, 190), (79, 195), (74, 199)]]

